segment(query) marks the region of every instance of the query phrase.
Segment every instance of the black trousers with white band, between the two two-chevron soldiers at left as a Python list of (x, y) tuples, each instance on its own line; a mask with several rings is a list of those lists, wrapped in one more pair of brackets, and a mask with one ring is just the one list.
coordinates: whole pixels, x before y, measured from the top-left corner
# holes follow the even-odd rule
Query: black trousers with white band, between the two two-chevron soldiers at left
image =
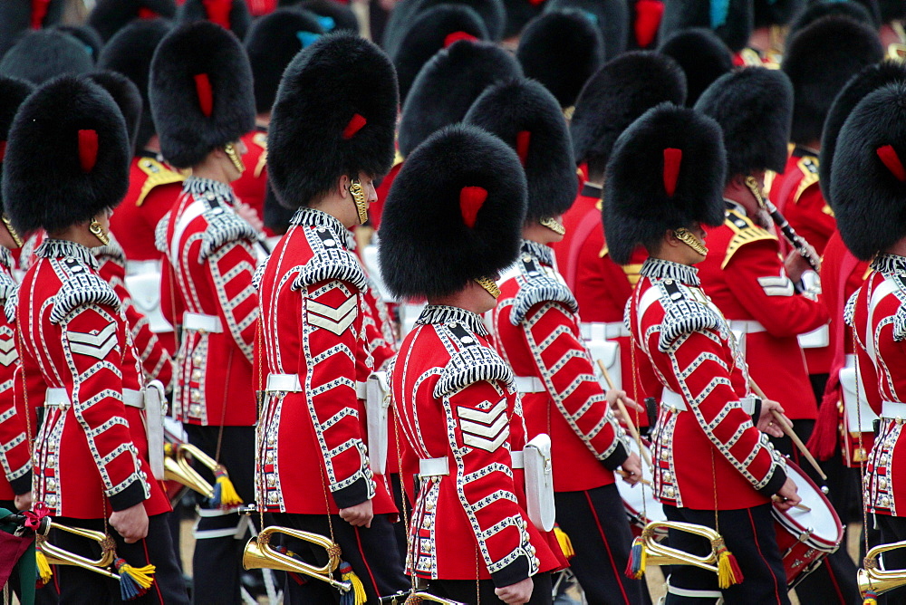
[[(217, 459), (220, 427), (184, 425), (188, 442)], [(255, 502), (255, 427), (223, 427), (218, 462), (226, 466), (230, 481), (246, 504)], [(205, 466), (198, 473), (214, 485)], [(242, 531), (239, 514), (220, 514), (198, 495), (201, 517), (195, 529), (192, 555), (192, 602), (196, 605), (239, 605), (242, 602), (242, 552), (250, 534)], [(214, 516), (208, 516), (214, 515)]]

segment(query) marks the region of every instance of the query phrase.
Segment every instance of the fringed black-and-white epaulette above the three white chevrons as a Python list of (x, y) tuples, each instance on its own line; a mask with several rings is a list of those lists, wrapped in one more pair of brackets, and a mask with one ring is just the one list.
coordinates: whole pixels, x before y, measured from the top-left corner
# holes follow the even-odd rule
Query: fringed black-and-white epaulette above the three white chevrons
[(434, 386), (434, 397), (447, 397), (481, 380), (503, 380), (507, 385), (513, 383), (513, 370), (506, 361), (493, 349), (479, 344), (465, 326), (449, 324), (444, 326), (444, 330), (461, 348), (440, 371), (440, 378)]

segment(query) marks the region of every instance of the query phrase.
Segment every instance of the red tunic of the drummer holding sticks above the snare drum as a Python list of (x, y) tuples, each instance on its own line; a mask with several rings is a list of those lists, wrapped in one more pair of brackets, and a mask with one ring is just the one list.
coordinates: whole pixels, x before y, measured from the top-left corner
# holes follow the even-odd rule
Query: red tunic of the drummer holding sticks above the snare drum
[(699, 510), (766, 504), (786, 473), (740, 406), (745, 362), (727, 322), (694, 268), (650, 258), (641, 274), (626, 322), (665, 388), (652, 451), (655, 496)]

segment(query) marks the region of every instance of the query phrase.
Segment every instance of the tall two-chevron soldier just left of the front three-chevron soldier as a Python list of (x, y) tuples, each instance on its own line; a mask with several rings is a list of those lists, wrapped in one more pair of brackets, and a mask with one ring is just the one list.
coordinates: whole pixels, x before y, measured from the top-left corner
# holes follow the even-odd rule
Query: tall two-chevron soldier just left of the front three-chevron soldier
[[(270, 179), (297, 212), (257, 278), (258, 504), (338, 543), (369, 602), (409, 582), (390, 523), (397, 510), (369, 458), (379, 444), (369, 443), (363, 401), (368, 285), (347, 238), (367, 219), (373, 179), (390, 169), (397, 99), (390, 60), (356, 35), (325, 36), (290, 62), (272, 114)], [(308, 562), (324, 556), (294, 550)], [(298, 602), (340, 600), (323, 582), (287, 587)]]

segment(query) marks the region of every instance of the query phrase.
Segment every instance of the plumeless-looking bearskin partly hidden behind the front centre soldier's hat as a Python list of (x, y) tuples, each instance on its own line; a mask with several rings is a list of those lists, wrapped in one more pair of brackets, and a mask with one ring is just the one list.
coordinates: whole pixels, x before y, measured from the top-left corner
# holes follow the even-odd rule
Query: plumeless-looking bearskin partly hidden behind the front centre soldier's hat
[(452, 43), (425, 63), (412, 84), (400, 116), (400, 153), (409, 156), (433, 132), (466, 117), (491, 84), (521, 75), (513, 54), (495, 44)]

